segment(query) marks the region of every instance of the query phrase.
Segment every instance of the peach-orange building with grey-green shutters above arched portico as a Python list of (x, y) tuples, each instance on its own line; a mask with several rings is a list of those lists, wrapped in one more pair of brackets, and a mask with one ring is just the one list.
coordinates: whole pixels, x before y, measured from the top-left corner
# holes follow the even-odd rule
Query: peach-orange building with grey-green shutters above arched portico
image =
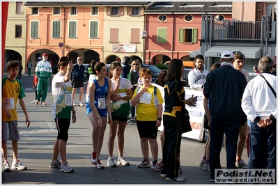
[(77, 56), (83, 63), (101, 61), (104, 7), (36, 3), (25, 4), (26, 61), (35, 63), (43, 53), (54, 65), (61, 56), (69, 56), (73, 63)]

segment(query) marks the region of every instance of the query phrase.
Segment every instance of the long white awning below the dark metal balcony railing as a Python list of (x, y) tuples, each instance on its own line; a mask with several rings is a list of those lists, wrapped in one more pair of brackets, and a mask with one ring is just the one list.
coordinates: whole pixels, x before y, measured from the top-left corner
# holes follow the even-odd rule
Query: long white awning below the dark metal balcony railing
[(261, 48), (260, 47), (224, 47), (224, 46), (213, 46), (205, 52), (206, 57), (220, 57), (221, 53), (229, 50), (231, 52), (242, 52), (247, 59), (261, 59)]

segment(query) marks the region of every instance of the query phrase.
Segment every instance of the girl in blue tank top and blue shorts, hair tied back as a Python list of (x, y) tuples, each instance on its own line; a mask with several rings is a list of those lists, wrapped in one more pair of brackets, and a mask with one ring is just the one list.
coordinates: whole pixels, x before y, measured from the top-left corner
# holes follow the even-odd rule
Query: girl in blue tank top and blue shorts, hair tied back
[(95, 79), (90, 82), (88, 102), (86, 103), (86, 112), (91, 124), (93, 125), (92, 139), (93, 150), (91, 163), (97, 169), (105, 168), (100, 162), (100, 150), (103, 144), (103, 137), (105, 136), (105, 129), (107, 123), (111, 125), (111, 104), (110, 104), (110, 90), (111, 79), (107, 79), (107, 68), (105, 63), (93, 62), (92, 72)]

